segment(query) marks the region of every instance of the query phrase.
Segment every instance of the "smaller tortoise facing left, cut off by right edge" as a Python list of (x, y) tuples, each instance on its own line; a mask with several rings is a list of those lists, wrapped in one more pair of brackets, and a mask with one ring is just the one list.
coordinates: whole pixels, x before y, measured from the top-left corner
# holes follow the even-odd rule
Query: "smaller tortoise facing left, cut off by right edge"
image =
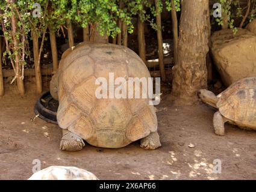
[(256, 130), (256, 77), (241, 79), (217, 96), (201, 89), (199, 97), (219, 109), (213, 116), (215, 134), (225, 134), (225, 122), (247, 130)]

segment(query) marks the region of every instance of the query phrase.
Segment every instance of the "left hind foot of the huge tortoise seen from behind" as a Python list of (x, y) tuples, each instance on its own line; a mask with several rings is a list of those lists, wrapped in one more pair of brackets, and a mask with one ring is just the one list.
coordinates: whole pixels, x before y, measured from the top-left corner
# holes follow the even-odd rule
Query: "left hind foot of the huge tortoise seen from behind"
[(84, 141), (81, 137), (68, 130), (63, 130), (63, 136), (60, 141), (60, 150), (62, 151), (80, 151), (84, 147)]

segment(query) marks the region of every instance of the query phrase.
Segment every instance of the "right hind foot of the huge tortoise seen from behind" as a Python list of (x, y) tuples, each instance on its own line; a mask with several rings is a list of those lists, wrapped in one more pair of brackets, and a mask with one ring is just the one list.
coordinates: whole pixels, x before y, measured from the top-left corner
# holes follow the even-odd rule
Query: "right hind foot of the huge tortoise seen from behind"
[(140, 147), (144, 149), (156, 149), (161, 146), (160, 137), (157, 131), (149, 134), (149, 136), (140, 139)]

